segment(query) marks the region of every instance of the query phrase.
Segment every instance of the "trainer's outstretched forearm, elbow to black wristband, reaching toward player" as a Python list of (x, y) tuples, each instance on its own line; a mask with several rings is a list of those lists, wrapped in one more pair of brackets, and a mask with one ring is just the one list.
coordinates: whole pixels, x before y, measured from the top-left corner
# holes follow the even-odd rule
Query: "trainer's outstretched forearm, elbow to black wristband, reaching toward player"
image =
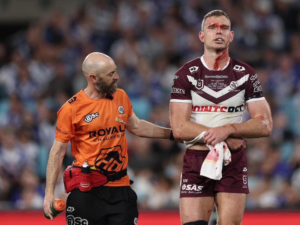
[(130, 132), (139, 137), (169, 139), (171, 129), (157, 126), (146, 120), (140, 120), (138, 127)]

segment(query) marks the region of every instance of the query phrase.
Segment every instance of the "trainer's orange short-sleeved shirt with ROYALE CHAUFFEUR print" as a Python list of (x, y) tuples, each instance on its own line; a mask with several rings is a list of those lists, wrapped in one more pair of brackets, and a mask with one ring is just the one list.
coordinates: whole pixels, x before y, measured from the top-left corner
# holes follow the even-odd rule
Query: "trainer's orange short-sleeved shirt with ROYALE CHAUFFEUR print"
[[(106, 174), (125, 170), (128, 164), (125, 128), (133, 114), (131, 102), (122, 89), (113, 99), (92, 99), (83, 89), (68, 100), (57, 113), (55, 139), (71, 142), (74, 166), (85, 160)], [(128, 175), (107, 186), (129, 186)]]

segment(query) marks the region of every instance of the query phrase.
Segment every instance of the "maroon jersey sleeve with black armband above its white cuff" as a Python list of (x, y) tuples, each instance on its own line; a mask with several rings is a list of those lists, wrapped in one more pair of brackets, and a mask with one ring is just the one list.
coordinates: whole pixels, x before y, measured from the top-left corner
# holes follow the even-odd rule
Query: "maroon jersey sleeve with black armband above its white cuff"
[(264, 100), (265, 97), (262, 93), (262, 86), (260, 84), (259, 78), (255, 73), (254, 69), (250, 68), (249, 78), (245, 85), (245, 102), (253, 102)]

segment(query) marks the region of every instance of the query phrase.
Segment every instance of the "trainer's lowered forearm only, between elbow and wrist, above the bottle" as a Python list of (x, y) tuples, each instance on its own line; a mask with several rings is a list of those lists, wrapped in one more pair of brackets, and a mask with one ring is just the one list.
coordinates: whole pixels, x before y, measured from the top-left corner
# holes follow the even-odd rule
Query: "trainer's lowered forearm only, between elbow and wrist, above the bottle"
[(46, 171), (46, 190), (45, 193), (53, 193), (58, 174), (61, 170), (64, 154), (52, 147), (49, 154)]

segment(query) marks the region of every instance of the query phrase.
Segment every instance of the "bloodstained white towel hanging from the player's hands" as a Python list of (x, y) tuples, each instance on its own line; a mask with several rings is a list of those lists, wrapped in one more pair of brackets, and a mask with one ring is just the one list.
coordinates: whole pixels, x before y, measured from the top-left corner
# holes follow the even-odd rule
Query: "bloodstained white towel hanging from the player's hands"
[[(195, 139), (191, 141), (185, 141), (187, 148), (202, 139), (205, 131), (199, 134)], [(226, 166), (231, 162), (231, 153), (225, 142), (217, 143), (214, 147), (211, 145), (206, 146), (209, 148), (209, 153), (206, 156), (200, 170), (200, 176), (205, 176), (210, 179), (220, 180), (222, 178), (223, 164)]]

